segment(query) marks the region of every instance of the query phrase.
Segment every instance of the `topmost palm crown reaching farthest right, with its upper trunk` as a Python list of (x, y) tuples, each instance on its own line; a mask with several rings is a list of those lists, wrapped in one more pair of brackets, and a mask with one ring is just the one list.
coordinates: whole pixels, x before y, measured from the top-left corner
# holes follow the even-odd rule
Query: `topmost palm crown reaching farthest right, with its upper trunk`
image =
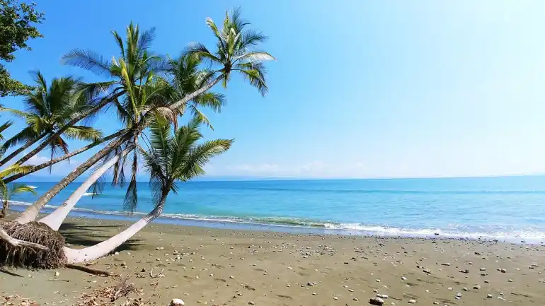
[(193, 42), (188, 46), (186, 53), (208, 61), (215, 68), (202, 79), (202, 86), (199, 86), (198, 90), (185, 95), (173, 103), (171, 107), (180, 107), (180, 105), (210, 90), (220, 81), (226, 88), (233, 71), (241, 73), (243, 78), (249, 81), (251, 86), (257, 88), (261, 95), (266, 95), (268, 86), (265, 81), (263, 62), (275, 60), (275, 57), (267, 52), (252, 50), (252, 48), (265, 42), (267, 37), (256, 30), (246, 29), (250, 23), (241, 19), (239, 8), (234, 8), (231, 13), (226, 12), (222, 30), (219, 30), (211, 18), (206, 19), (206, 24), (217, 39), (214, 52), (207, 49), (205, 45)]

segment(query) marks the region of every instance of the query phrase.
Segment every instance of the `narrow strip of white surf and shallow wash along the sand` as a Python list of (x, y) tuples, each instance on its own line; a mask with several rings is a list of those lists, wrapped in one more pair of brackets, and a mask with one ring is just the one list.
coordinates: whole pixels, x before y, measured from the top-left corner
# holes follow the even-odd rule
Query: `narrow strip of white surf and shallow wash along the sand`
[[(25, 202), (12, 201), (11, 209), (16, 212), (23, 211), (28, 206)], [(57, 206), (46, 206), (42, 213), (50, 213)], [(127, 213), (120, 211), (93, 211), (86, 208), (74, 208), (69, 216), (76, 218), (88, 218), (98, 220), (117, 220), (134, 222), (144, 216), (145, 213), (135, 212), (134, 216), (128, 216)], [(168, 215), (168, 214), (164, 214)], [(265, 218), (266, 219), (266, 218)], [(282, 219), (282, 218), (272, 218)], [(288, 219), (288, 218), (285, 218)], [(411, 228), (389, 228), (386, 226), (371, 225), (366, 229), (342, 228), (330, 223), (311, 223), (290, 224), (290, 223), (260, 223), (243, 219), (230, 218), (206, 218), (202, 216), (160, 216), (154, 220), (154, 223), (192, 226), (199, 228), (214, 228), (219, 230), (249, 230), (260, 232), (277, 232), (292, 234), (314, 234), (314, 235), (345, 235), (361, 237), (409, 237), (409, 238), (446, 238), (453, 240), (476, 240), (491, 242), (507, 242), (523, 245), (542, 245), (545, 243), (545, 237), (521, 237), (520, 235), (502, 236), (492, 235), (490, 233), (449, 233), (440, 229), (411, 229)]]

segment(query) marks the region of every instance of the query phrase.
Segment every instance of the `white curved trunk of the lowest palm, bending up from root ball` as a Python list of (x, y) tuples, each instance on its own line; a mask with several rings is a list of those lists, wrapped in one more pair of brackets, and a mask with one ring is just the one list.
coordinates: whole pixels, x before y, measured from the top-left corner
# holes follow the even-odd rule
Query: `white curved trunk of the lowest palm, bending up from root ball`
[(130, 240), (132, 236), (136, 235), (140, 230), (142, 230), (142, 228), (148, 225), (148, 223), (161, 216), (167, 195), (168, 190), (163, 192), (159, 203), (157, 206), (155, 206), (153, 211), (110, 239), (84, 249), (69, 249), (68, 247), (64, 247), (64, 254), (67, 255), (68, 263), (77, 264), (79, 262), (95, 260), (113, 252), (114, 249), (125, 243), (127, 240)]

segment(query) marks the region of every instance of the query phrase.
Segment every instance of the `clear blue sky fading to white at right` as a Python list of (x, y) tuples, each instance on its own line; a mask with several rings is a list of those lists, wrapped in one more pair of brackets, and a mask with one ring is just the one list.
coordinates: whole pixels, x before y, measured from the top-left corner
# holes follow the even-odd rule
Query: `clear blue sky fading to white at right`
[[(277, 61), (268, 64), (266, 98), (234, 78), (224, 111), (205, 111), (215, 128), (207, 137), (236, 139), (209, 177), (545, 172), (545, 1), (38, 2), (45, 38), (8, 65), (26, 82), (33, 69), (96, 80), (60, 57), (76, 47), (117, 56), (110, 30), (123, 32), (131, 20), (156, 27), (155, 52), (175, 56), (192, 41), (212, 48), (205, 18), (219, 22), (241, 6)], [(108, 133), (117, 125), (103, 115), (96, 126)]]

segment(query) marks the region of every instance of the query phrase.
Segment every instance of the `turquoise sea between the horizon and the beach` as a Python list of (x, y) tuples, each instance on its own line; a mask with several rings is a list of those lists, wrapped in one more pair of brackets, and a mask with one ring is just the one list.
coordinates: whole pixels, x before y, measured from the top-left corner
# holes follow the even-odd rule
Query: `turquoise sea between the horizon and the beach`
[[(30, 183), (38, 194), (52, 183)], [(69, 185), (50, 203), (78, 187)], [(138, 184), (137, 211), (151, 210), (148, 184)], [(74, 213), (124, 216), (125, 192), (106, 185), (84, 196)], [(37, 196), (14, 200), (32, 202)], [(188, 182), (168, 196), (164, 220), (301, 227), (324, 233), (545, 240), (545, 177), (400, 180)], [(24, 208), (24, 204), (13, 206)], [(51, 207), (49, 207), (51, 208)], [(282, 229), (280, 229), (282, 230)]]

